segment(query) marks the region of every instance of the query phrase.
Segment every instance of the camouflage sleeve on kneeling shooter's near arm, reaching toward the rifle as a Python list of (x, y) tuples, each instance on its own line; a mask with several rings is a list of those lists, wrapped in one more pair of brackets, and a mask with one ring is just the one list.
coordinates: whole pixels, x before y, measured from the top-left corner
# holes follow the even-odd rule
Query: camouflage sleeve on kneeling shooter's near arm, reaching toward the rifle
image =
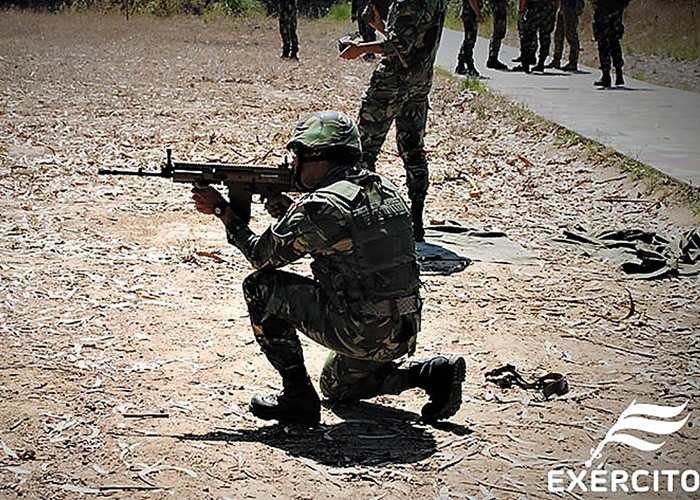
[(342, 216), (328, 204), (313, 197), (292, 205), (284, 217), (256, 235), (248, 226), (227, 230), (228, 241), (235, 245), (256, 269), (277, 268), (309, 253), (333, 252), (343, 240), (339, 223)]

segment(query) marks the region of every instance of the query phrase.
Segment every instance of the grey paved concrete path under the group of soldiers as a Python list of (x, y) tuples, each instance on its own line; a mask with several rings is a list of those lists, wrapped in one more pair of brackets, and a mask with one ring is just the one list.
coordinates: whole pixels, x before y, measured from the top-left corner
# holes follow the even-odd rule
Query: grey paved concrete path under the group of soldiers
[[(437, 66), (454, 72), (462, 38), (462, 32), (443, 31)], [(568, 46), (564, 49), (568, 54)], [(479, 37), (474, 60), (492, 90), (584, 137), (700, 187), (700, 94), (627, 76), (624, 87), (598, 89), (593, 81), (600, 71), (584, 66), (574, 74), (553, 69), (544, 75), (494, 71), (484, 66), (487, 52), (488, 40)], [(518, 53), (504, 46), (501, 61), (512, 67), (511, 59)]]

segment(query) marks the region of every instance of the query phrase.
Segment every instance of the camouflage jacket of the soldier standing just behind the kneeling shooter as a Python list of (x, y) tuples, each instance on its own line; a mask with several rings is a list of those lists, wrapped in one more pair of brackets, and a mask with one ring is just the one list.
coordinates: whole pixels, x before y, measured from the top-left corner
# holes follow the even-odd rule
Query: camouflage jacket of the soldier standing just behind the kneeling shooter
[(432, 80), (446, 10), (447, 0), (394, 0), (378, 71)]

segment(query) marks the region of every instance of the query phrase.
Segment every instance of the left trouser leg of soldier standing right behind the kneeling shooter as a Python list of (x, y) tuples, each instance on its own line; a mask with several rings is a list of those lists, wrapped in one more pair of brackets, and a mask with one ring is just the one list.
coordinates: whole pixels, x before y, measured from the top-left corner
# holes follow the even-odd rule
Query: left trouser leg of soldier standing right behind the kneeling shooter
[(384, 75), (373, 74), (369, 88), (362, 96), (357, 127), (362, 143), (362, 168), (374, 171), (377, 156), (398, 109), (398, 82), (385, 85)]

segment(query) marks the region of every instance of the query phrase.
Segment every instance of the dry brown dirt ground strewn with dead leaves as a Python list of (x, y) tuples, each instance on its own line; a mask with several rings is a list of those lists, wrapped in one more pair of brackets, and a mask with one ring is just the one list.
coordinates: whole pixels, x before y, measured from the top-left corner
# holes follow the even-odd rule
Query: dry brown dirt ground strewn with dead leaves
[[(656, 452), (607, 445), (605, 467), (700, 469), (698, 278), (632, 280), (551, 243), (577, 223), (678, 235), (698, 219), (443, 75), (428, 217), (504, 230), (537, 258), (424, 276), (417, 355), (468, 360), (461, 410), (424, 425), (414, 390), (327, 405), (311, 430), (250, 415), (280, 381), (250, 331), (249, 266), (186, 186), (96, 171), (155, 167), (166, 147), (280, 161), (301, 115), (356, 115), (373, 64), (337, 57), (348, 29), (302, 21), (295, 63), (268, 19), (0, 16), (0, 497), (548, 498), (548, 472), (582, 469), (634, 400), (688, 402), (688, 424), (649, 438)], [(403, 184), (393, 138), (379, 169)], [(318, 382), (327, 352), (304, 347)], [(571, 392), (486, 384), (505, 363)]]

